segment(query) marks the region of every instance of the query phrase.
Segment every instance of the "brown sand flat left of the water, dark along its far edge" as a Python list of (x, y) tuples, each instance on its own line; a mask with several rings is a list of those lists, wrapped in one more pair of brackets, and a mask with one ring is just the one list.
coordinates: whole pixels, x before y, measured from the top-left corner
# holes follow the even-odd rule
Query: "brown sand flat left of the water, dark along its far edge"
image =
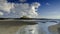
[(0, 34), (16, 34), (16, 32), (25, 27), (25, 25), (31, 25), (34, 23), (27, 23), (21, 21), (4, 21), (0, 20)]

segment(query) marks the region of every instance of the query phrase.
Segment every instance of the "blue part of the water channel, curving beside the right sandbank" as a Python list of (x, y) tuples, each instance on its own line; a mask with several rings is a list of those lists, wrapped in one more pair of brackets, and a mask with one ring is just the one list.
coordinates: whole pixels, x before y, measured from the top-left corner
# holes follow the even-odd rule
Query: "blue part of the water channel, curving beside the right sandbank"
[(56, 24), (58, 23), (54, 23), (54, 22), (39, 23), (39, 28), (43, 30), (42, 32), (45, 32), (46, 34), (51, 34), (48, 30), (48, 27)]

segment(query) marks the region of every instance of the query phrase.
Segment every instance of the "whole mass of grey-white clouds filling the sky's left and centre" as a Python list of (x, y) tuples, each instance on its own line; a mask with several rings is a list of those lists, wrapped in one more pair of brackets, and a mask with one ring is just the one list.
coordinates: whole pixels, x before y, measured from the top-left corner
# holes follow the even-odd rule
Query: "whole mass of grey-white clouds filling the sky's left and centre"
[[(28, 16), (31, 18), (38, 17), (37, 8), (40, 3), (33, 2), (29, 3), (7, 3), (6, 0), (0, 0), (0, 15), (4, 18), (20, 18), (22, 16)], [(26, 1), (26, 0), (20, 0)]]

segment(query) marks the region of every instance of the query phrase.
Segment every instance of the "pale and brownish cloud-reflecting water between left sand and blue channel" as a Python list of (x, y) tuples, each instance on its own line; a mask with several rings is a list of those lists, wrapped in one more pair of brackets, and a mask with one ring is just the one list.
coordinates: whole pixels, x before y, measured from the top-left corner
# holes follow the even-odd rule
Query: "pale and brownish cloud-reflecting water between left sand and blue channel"
[(17, 34), (38, 34), (37, 27), (38, 25), (26, 25)]

